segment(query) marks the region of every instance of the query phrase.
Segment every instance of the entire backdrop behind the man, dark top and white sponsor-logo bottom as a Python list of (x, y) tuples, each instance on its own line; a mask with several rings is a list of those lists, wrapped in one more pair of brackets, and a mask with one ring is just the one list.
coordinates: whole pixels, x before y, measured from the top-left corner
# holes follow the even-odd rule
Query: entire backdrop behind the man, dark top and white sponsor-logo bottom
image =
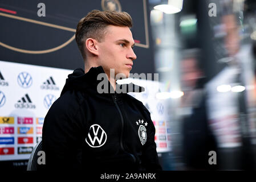
[[(40, 2), (0, 0), (1, 167), (7, 164), (9, 167), (26, 166), (20, 162), (27, 162), (32, 148), (40, 141), (43, 119), (60, 96), (67, 75), (75, 68), (83, 68), (82, 56), (74, 40), (75, 29), (79, 19), (92, 9), (131, 14), (137, 55), (131, 73), (155, 71), (148, 1), (76, 0), (71, 4), (66, 0), (45, 0), (46, 16), (39, 17)], [(136, 82), (142, 86), (145, 83), (143, 80)], [(144, 93), (133, 96), (151, 111), (156, 126), (157, 151), (170, 151), (167, 103), (155, 98), (158, 83), (147, 83)]]

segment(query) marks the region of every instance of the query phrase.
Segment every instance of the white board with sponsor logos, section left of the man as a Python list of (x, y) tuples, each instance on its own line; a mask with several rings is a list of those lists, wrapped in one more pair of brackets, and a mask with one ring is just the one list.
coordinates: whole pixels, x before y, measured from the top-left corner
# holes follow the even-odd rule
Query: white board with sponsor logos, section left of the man
[(68, 69), (0, 61), (0, 161), (29, 159)]

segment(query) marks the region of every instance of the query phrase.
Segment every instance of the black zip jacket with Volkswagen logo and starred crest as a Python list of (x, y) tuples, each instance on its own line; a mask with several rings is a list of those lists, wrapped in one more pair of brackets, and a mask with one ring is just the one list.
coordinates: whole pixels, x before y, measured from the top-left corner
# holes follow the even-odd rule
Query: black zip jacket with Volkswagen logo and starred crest
[[(102, 67), (68, 75), (58, 100), (44, 118), (42, 146), (44, 169), (104, 171), (161, 170), (156, 152), (155, 126), (142, 102), (127, 93), (144, 88), (108, 81), (108, 91), (97, 92)], [(104, 74), (105, 75), (105, 74)], [(107, 76), (104, 77), (107, 79)]]

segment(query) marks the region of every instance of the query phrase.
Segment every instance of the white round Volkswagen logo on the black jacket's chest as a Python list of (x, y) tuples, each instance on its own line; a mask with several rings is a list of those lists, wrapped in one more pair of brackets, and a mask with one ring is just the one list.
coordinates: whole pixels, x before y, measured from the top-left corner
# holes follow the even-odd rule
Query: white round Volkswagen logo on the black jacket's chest
[[(92, 130), (92, 133), (91, 133)], [(93, 136), (91, 135), (93, 134)], [(89, 140), (88, 140), (89, 139)], [(96, 142), (97, 140), (97, 142)], [(104, 142), (103, 142), (104, 140)], [(88, 136), (86, 137), (86, 143), (90, 147), (101, 147), (107, 141), (107, 134), (105, 131), (100, 127), (100, 125), (94, 124), (90, 127)]]

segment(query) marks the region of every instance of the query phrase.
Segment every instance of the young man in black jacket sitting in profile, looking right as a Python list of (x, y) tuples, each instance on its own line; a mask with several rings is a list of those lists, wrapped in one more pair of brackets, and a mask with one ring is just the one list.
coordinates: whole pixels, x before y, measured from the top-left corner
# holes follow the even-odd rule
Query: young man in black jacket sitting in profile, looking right
[[(85, 71), (68, 75), (44, 119), (47, 169), (161, 169), (149, 111), (126, 92), (118, 92), (127, 85), (116, 84), (117, 74), (129, 77), (136, 59), (131, 27), (131, 16), (116, 11), (92, 10), (79, 21), (76, 42)], [(102, 73), (107, 80), (104, 93), (98, 77)], [(143, 90), (135, 88), (129, 84), (125, 90)]]

